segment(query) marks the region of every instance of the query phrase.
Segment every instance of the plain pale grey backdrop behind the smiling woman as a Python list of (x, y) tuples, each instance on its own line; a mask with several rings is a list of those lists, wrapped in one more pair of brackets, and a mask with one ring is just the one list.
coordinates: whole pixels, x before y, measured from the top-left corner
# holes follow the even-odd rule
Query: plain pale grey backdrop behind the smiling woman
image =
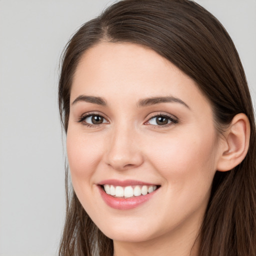
[[(64, 220), (60, 53), (111, 0), (0, 0), (0, 256), (56, 255)], [(197, 0), (232, 37), (256, 98), (256, 0)]]

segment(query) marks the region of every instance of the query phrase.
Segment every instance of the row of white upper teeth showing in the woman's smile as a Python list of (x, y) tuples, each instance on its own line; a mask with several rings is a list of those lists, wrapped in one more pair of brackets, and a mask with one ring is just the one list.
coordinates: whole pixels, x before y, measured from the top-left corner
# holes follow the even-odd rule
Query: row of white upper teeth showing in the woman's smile
[(145, 195), (151, 193), (156, 189), (156, 185), (136, 185), (136, 186), (113, 186), (109, 184), (104, 185), (104, 190), (107, 194), (116, 197), (132, 197)]

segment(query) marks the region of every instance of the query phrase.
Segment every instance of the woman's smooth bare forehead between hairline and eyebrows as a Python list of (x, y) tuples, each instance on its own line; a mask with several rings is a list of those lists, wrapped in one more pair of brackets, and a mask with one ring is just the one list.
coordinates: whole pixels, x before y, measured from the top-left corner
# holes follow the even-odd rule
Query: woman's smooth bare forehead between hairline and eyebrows
[(133, 43), (102, 42), (84, 52), (74, 73), (70, 102), (86, 94), (106, 100), (175, 96), (209, 105), (196, 83), (154, 50)]

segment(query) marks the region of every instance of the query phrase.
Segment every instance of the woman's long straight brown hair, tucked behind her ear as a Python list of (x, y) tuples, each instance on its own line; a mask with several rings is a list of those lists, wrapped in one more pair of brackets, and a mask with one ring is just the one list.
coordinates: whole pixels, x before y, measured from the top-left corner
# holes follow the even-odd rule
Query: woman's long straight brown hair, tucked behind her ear
[[(212, 105), (215, 126), (237, 113), (248, 116), (251, 133), (244, 160), (218, 172), (199, 239), (200, 256), (256, 255), (256, 155), (254, 113), (235, 46), (219, 21), (190, 0), (122, 0), (83, 24), (67, 43), (59, 77), (59, 111), (65, 131), (72, 76), (86, 49), (101, 41), (146, 45), (196, 81)], [(74, 191), (68, 192), (59, 255), (112, 256), (113, 243), (92, 222)]]

